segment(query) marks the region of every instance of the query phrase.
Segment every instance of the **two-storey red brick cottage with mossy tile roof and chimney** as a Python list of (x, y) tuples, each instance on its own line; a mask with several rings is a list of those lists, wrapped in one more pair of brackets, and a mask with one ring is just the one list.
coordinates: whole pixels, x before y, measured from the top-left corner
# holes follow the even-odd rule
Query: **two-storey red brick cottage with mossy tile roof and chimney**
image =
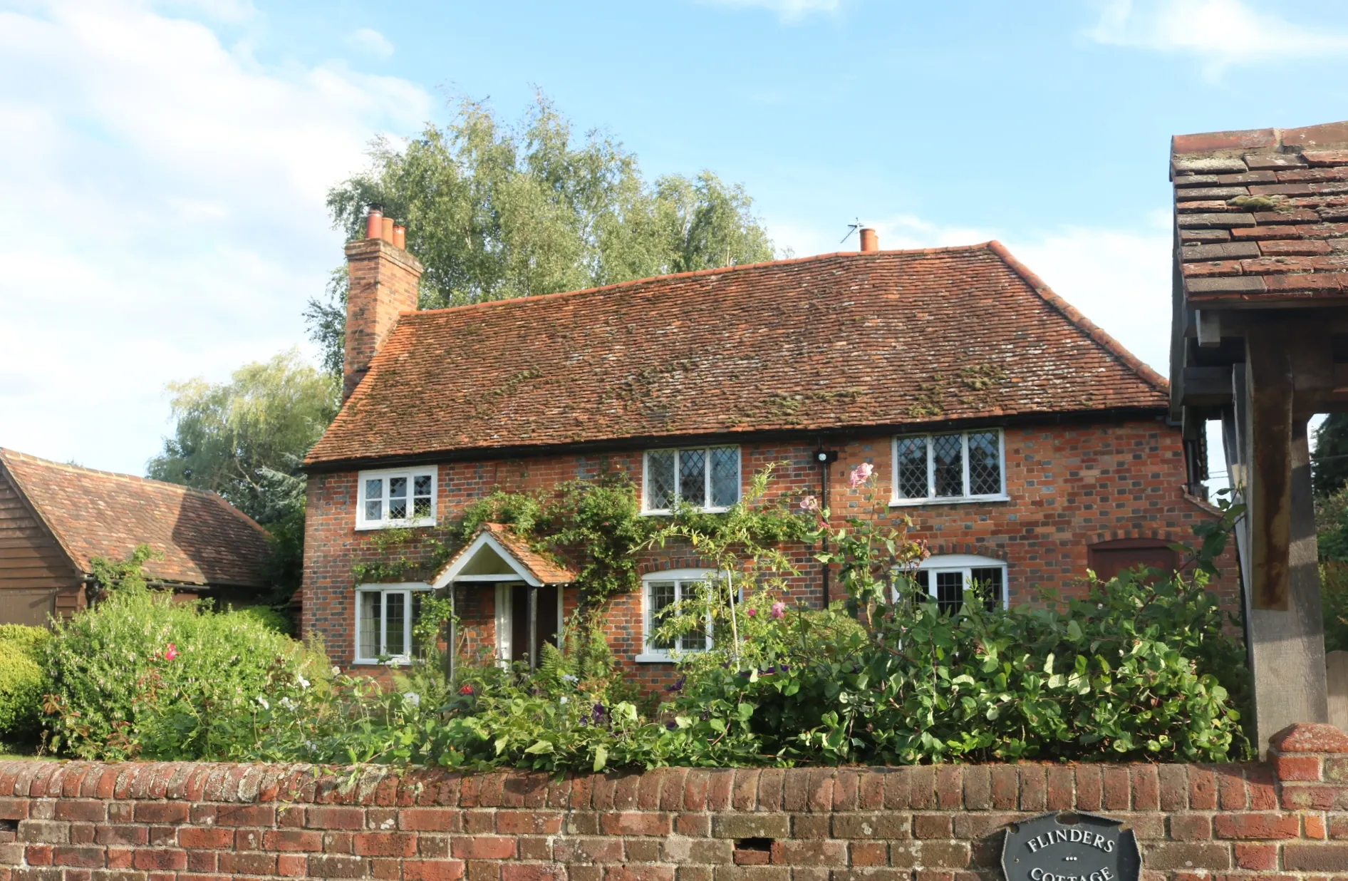
[[(417, 537), (495, 488), (624, 474), (659, 517), (675, 496), (724, 510), (782, 463), (771, 495), (821, 494), (841, 521), (872, 510), (847, 482), (871, 463), (884, 517), (931, 548), (930, 592), (957, 602), (977, 581), (1007, 604), (1080, 591), (1088, 567), (1174, 567), (1169, 545), (1215, 515), (1165, 379), (1000, 243), (880, 251), (864, 231), (860, 252), (418, 312), (422, 267), (387, 225), (346, 246), (348, 397), (306, 460), (303, 631), (344, 666), (406, 657), (430, 590), (452, 590), (461, 638), (499, 658), (557, 638), (574, 561), (500, 525), (411, 583), (355, 575), (386, 556), (381, 530), (411, 528), (399, 553), (415, 559)], [(829, 573), (791, 552), (791, 599), (818, 607)], [(642, 572), (608, 637), (656, 685), (671, 650), (698, 646), (654, 645), (652, 617), (709, 569), (665, 549)], [(1233, 607), (1232, 565), (1213, 587)]]

